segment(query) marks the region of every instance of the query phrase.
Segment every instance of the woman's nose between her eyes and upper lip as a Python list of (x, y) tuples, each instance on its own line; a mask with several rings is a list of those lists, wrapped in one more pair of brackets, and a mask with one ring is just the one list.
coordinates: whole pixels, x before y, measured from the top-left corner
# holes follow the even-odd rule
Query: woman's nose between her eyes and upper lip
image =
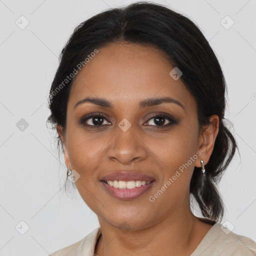
[(146, 145), (135, 129), (135, 125), (131, 125), (125, 131), (116, 126), (115, 135), (111, 139), (106, 152), (110, 160), (130, 164), (134, 161), (144, 160), (147, 157)]

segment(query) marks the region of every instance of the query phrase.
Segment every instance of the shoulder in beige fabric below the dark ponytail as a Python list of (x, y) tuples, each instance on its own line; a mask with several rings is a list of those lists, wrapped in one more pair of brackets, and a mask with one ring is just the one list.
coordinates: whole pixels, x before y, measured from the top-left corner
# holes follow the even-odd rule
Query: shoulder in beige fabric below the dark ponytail
[(220, 223), (215, 223), (206, 233), (191, 256), (255, 256), (256, 243), (243, 235), (238, 235)]

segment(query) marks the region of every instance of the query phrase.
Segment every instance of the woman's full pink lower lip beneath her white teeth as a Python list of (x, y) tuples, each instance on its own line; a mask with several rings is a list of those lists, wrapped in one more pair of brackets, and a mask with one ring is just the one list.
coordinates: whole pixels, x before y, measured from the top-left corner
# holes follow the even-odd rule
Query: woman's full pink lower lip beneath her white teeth
[(104, 188), (106, 189), (106, 191), (109, 194), (111, 194), (112, 196), (114, 196), (118, 199), (124, 199), (124, 200), (125, 199), (126, 200), (134, 199), (134, 198), (139, 197), (140, 195), (147, 192), (155, 183), (155, 181), (153, 180), (148, 184), (129, 189), (129, 188), (116, 188), (116, 187), (108, 185), (104, 181), (100, 181), (100, 182), (103, 184)]

